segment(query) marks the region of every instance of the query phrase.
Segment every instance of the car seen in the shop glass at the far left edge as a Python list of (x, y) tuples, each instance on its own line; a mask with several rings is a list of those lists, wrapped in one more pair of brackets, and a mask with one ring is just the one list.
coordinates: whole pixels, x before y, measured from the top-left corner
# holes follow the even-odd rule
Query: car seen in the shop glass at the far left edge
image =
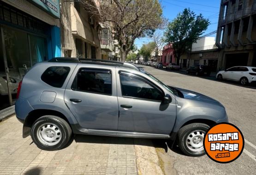
[[(18, 82), (16, 79), (12, 77), (9, 77), (9, 80), (10, 80), (11, 93), (16, 94), (18, 89)], [(6, 75), (2, 74), (0, 75), (0, 96), (6, 96), (6, 95), (8, 95)]]

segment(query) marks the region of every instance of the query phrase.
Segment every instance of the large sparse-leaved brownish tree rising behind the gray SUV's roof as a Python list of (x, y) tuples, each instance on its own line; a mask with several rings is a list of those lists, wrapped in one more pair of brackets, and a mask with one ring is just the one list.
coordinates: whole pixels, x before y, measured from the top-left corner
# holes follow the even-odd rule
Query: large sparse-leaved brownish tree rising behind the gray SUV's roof
[(135, 39), (153, 34), (164, 23), (159, 0), (102, 0), (99, 6), (92, 0), (81, 2), (91, 16), (100, 16), (103, 25), (113, 28), (123, 62)]

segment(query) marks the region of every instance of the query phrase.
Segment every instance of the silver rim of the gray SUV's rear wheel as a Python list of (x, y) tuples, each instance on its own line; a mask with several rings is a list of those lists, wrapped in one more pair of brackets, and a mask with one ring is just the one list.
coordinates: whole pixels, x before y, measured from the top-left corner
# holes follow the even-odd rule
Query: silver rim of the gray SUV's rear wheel
[(55, 124), (47, 123), (42, 124), (37, 129), (38, 140), (48, 146), (57, 145), (61, 140), (61, 131)]

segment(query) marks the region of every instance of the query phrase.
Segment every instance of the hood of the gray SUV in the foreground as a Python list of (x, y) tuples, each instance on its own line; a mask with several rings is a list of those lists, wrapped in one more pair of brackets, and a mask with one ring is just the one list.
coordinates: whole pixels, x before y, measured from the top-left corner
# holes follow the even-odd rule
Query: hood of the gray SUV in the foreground
[[(186, 90), (186, 89), (176, 88), (176, 87), (172, 87), (172, 88), (174, 90), (176, 89), (177, 91), (179, 91), (179, 97), (181, 97), (181, 98), (189, 99), (189, 100), (193, 100), (193, 101), (197, 101), (197, 102), (211, 103), (214, 105), (224, 107), (220, 102), (218, 102), (217, 100), (214, 100), (213, 98), (211, 98), (209, 96), (205, 96), (203, 94), (194, 92), (192, 90)], [(183, 96), (181, 96), (181, 94)]]

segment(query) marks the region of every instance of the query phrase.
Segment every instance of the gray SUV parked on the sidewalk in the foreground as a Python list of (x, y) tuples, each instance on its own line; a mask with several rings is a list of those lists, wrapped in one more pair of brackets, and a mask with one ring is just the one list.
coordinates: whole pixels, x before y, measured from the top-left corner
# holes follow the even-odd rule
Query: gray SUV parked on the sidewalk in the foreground
[(19, 83), (15, 110), (23, 137), (43, 150), (84, 134), (168, 139), (201, 156), (208, 128), (228, 122), (220, 102), (164, 85), (134, 64), (78, 58), (32, 67)]

